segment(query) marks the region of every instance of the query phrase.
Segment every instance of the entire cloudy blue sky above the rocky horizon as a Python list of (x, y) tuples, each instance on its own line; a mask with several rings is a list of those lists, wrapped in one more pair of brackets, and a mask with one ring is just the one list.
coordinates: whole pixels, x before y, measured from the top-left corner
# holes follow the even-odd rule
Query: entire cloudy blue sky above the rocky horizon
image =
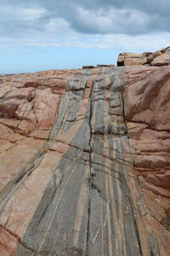
[(0, 0), (0, 73), (116, 63), (170, 45), (170, 0)]

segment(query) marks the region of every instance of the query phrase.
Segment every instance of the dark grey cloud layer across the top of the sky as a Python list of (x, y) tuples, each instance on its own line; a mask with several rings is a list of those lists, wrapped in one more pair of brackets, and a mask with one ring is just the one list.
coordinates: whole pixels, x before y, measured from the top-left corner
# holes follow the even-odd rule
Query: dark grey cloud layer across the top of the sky
[(2, 0), (0, 33), (47, 32), (62, 18), (84, 34), (170, 32), (169, 0)]

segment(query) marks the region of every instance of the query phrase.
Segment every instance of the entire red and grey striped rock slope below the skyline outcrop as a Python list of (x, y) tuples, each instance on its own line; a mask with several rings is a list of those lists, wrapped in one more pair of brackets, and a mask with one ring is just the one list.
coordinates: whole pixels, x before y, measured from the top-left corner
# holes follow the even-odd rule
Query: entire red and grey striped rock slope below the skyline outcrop
[(0, 88), (0, 255), (170, 254), (170, 67)]

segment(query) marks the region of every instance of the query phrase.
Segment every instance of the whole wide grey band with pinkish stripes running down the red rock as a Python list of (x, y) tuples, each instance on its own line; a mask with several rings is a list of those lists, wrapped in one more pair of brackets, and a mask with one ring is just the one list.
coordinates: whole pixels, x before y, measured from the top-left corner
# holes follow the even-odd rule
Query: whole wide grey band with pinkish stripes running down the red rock
[[(77, 114), (93, 72), (82, 70), (69, 80), (49, 140), (66, 137), (77, 124), (72, 147), (56, 166), (14, 256), (142, 255), (128, 183), (133, 154), (123, 118), (122, 70), (99, 68), (81, 121)], [(160, 256), (150, 234), (150, 254), (143, 256)]]

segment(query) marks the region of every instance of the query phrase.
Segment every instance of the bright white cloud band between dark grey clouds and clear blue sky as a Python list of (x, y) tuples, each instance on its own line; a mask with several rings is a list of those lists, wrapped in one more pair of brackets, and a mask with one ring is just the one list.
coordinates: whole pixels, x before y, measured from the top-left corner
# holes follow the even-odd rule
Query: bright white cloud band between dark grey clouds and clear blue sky
[[(64, 26), (65, 27), (65, 26)], [(108, 35), (86, 35), (74, 32), (65, 33), (62, 37), (53, 37), (48, 35), (46, 37), (42, 34), (40, 38), (0, 38), (2, 44), (0, 49), (4, 46), (9, 48), (37, 46), (37, 47), (78, 47), (78, 48), (99, 48), (112, 49), (113, 51), (156, 51), (170, 45), (170, 33), (155, 33), (150, 35), (128, 36), (124, 34), (108, 34)]]

